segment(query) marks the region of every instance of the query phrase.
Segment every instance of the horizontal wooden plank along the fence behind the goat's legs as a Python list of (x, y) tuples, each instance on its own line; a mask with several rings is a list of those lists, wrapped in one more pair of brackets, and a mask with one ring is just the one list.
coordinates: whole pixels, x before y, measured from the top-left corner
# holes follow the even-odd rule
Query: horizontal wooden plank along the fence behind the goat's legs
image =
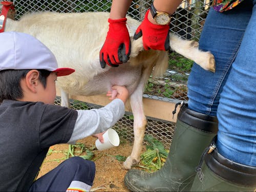
[[(60, 96), (60, 92), (57, 90), (57, 96)], [(80, 95), (71, 95), (71, 99), (93, 103), (97, 105), (106, 105), (111, 100), (105, 95), (94, 95), (94, 96), (80, 96)], [(176, 122), (177, 114), (179, 112), (179, 107), (177, 108), (176, 114), (173, 118), (173, 111), (175, 109), (175, 103), (173, 102), (166, 102), (156, 99), (150, 98), (143, 98), (143, 106), (144, 106), (144, 113), (146, 116), (163, 119), (167, 121)], [(125, 104), (125, 111), (132, 112), (130, 102), (127, 101)]]

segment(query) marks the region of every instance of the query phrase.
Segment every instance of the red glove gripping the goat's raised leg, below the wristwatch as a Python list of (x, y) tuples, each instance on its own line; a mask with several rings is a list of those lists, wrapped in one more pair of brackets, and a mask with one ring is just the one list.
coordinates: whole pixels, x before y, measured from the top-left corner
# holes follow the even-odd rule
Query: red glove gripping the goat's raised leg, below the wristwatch
[(142, 40), (145, 50), (169, 50), (169, 25), (152, 24), (147, 18), (148, 12), (150, 10), (147, 10), (144, 20), (136, 30), (133, 38), (136, 40), (143, 35)]

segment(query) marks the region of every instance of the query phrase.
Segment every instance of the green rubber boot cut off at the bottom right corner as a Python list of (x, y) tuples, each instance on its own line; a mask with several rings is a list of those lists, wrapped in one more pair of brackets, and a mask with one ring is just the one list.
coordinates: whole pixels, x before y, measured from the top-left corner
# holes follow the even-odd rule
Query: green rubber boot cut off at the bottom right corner
[(223, 157), (215, 142), (206, 151), (191, 191), (256, 191), (256, 167)]

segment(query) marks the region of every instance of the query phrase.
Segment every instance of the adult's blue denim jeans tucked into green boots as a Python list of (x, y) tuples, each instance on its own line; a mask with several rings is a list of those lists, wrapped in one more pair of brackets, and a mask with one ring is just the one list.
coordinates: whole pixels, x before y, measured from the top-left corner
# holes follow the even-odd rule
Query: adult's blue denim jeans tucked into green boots
[(224, 13), (210, 9), (199, 48), (216, 59), (216, 73), (194, 64), (188, 78), (188, 108), (217, 116), (218, 151), (256, 166), (256, 0)]

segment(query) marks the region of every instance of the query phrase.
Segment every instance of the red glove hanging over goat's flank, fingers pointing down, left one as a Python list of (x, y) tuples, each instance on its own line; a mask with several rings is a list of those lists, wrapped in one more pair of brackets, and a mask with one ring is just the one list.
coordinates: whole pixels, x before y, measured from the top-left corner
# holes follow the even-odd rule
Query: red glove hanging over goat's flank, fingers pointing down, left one
[(126, 18), (112, 20), (109, 18), (109, 32), (99, 53), (101, 68), (106, 64), (118, 67), (127, 62), (131, 54), (131, 39), (126, 27)]

